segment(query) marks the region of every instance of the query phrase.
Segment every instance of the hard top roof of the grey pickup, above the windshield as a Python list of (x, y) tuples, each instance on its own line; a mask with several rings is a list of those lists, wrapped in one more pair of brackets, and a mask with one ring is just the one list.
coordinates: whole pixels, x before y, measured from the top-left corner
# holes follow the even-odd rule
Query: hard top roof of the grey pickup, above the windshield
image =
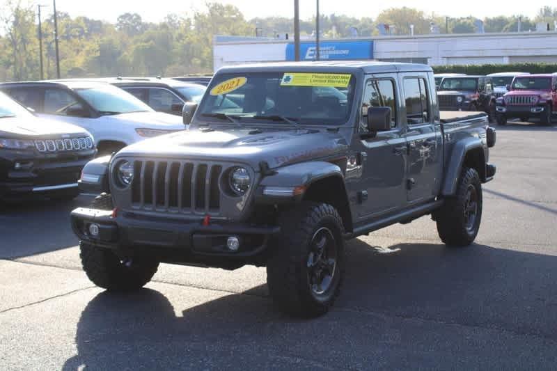
[(415, 63), (395, 63), (377, 61), (313, 61), (313, 62), (272, 62), (226, 66), (217, 73), (229, 72), (431, 72), (428, 65)]

